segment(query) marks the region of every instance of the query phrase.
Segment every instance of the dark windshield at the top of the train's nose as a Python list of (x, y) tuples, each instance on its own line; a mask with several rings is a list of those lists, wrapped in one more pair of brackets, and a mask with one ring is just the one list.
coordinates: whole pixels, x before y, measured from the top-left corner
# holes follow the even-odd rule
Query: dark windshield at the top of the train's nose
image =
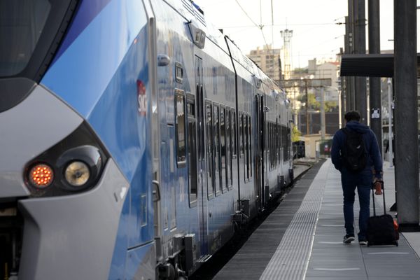
[(25, 69), (50, 10), (48, 0), (0, 0), (0, 76)]

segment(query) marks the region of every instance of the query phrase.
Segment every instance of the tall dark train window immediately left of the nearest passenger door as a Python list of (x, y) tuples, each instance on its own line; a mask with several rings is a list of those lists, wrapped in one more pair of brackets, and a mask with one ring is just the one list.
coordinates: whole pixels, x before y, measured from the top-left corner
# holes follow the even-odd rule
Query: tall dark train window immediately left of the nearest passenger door
[(197, 204), (197, 139), (195, 122), (195, 101), (193, 94), (187, 96), (187, 116), (188, 116), (188, 193), (190, 207)]

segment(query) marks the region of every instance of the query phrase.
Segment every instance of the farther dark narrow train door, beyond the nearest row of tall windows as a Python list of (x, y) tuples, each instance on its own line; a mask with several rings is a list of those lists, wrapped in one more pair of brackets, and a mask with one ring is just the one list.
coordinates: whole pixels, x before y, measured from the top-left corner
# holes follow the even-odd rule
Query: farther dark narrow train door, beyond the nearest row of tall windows
[(261, 185), (261, 159), (262, 159), (262, 147), (261, 147), (261, 128), (260, 128), (260, 97), (258, 94), (255, 95), (255, 194), (258, 194), (260, 199), (257, 201), (258, 209), (262, 209), (262, 185)]

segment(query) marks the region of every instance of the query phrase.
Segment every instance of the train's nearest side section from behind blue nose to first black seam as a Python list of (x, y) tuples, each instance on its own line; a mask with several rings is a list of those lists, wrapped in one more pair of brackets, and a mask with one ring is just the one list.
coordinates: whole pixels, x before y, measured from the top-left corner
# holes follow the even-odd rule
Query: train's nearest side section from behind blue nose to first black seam
[[(211, 37), (205, 22), (194, 25), (213, 41), (207, 38), (203, 49), (193, 44), (188, 22), (200, 12), (187, 2), (168, 3), (155, 6), (158, 53), (171, 59), (158, 68), (162, 193), (167, 195), (162, 197), (162, 258), (177, 253), (179, 237), (193, 235), (197, 244), (193, 271), (233, 235), (237, 182), (230, 161), (230, 120), (235, 80), (228, 53)], [(223, 36), (219, 41), (224, 43)], [(177, 69), (182, 69), (182, 78), (176, 76)], [(185, 118), (180, 118), (183, 109)]]

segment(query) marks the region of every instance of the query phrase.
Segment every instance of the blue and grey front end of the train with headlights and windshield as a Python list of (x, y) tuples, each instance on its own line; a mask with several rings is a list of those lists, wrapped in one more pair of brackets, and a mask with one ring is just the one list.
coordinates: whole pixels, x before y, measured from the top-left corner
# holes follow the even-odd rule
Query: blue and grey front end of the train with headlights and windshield
[(141, 1), (0, 1), (1, 279), (153, 278), (146, 27)]

